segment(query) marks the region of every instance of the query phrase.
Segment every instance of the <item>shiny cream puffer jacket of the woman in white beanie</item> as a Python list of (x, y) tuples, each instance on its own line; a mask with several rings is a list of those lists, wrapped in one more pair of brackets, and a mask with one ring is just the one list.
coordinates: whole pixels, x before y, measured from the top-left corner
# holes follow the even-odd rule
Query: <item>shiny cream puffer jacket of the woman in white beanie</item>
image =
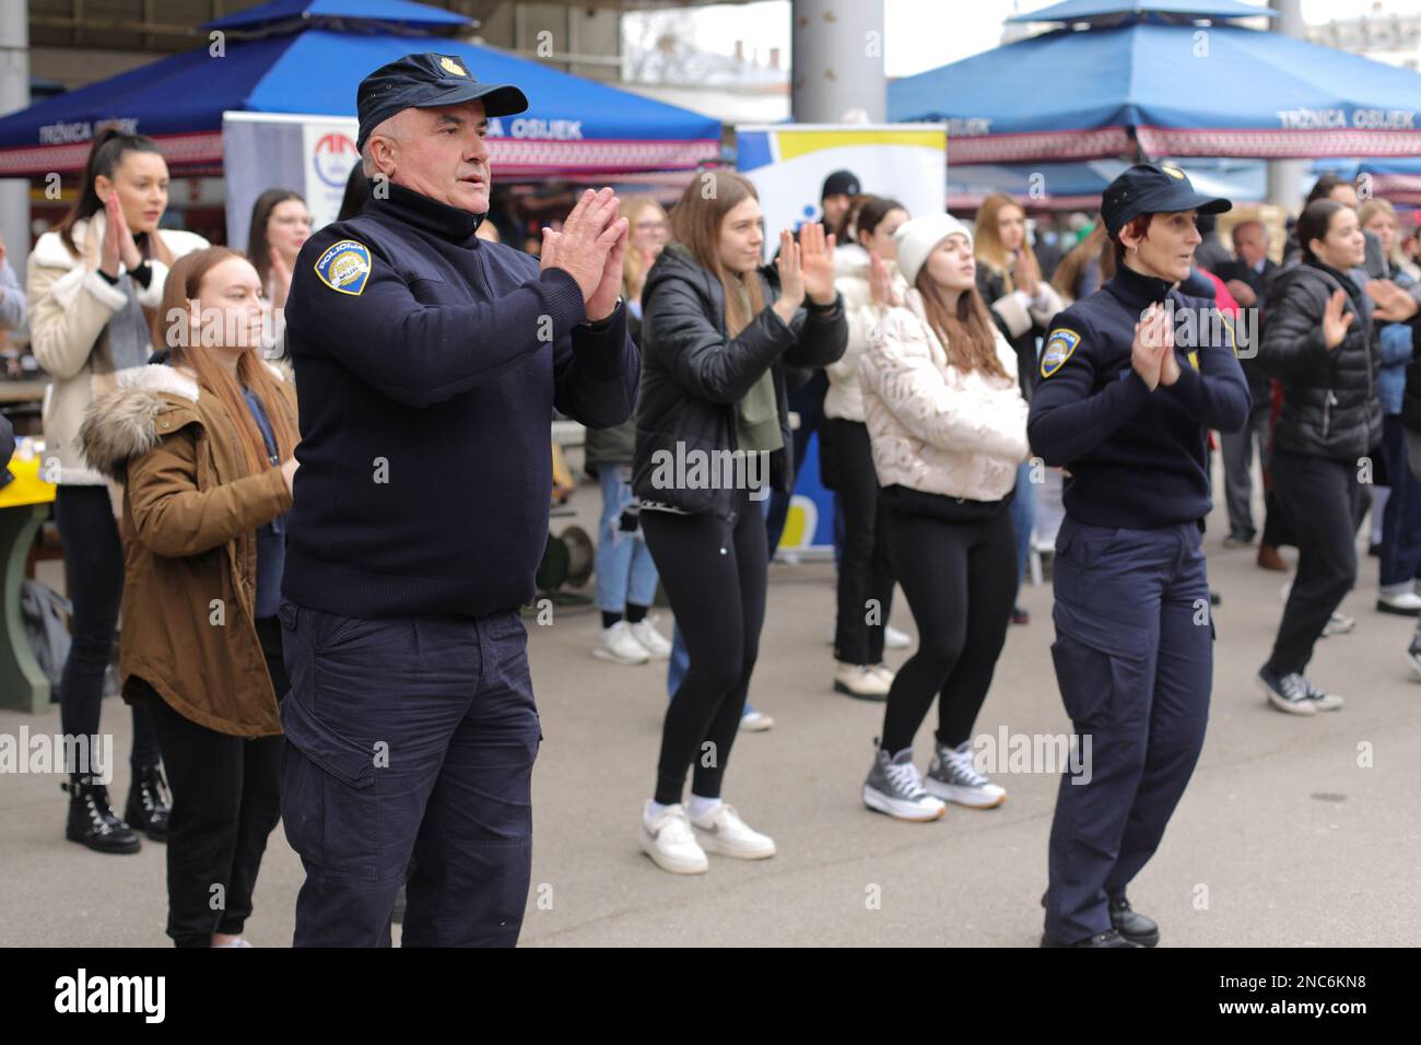
[(951, 365), (917, 290), (885, 310), (878, 333), (858, 364), (878, 483), (971, 500), (1010, 493), (1030, 456), (1027, 407), (1016, 353), (996, 326), (1006, 377)]

